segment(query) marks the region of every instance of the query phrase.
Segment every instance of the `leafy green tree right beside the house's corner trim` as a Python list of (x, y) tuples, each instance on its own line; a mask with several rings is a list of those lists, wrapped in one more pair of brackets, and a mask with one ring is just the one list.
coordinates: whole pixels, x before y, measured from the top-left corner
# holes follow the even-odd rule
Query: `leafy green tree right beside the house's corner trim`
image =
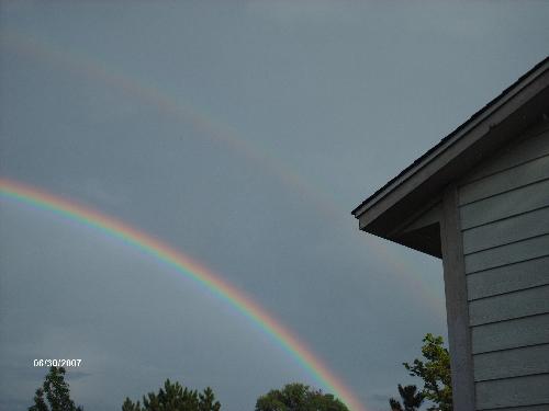
[(423, 339), (422, 354), (424, 359), (414, 359), (413, 365), (403, 363), (411, 376), (424, 381), (422, 396), (435, 403), (428, 410), (451, 411), (451, 372), (450, 353), (444, 347), (441, 336), (427, 334)]

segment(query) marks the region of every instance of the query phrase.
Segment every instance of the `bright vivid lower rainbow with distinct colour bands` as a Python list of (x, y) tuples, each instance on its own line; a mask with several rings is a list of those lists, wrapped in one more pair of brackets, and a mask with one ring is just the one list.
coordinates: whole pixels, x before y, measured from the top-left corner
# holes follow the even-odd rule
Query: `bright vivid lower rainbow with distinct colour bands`
[(273, 338), (274, 341), (277, 341), (277, 343), (309, 374), (321, 383), (325, 389), (333, 392), (345, 402), (350, 411), (366, 411), (366, 408), (360, 403), (351, 390), (313, 354), (311, 349), (251, 298), (225, 282), (204, 265), (193, 261), (190, 256), (119, 219), (107, 216), (88, 206), (77, 204), (74, 201), (53, 195), (11, 179), (0, 178), (0, 197), (24, 203), (32, 207), (44, 209), (94, 228), (154, 256), (183, 274), (186, 277), (205, 286), (216, 297), (225, 300), (242, 316), (261, 329), (262, 332)]

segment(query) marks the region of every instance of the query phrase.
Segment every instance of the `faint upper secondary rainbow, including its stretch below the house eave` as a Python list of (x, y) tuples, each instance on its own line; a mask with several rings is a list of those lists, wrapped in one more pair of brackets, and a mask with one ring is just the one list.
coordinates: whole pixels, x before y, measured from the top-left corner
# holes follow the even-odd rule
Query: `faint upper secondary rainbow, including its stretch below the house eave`
[[(67, 71), (83, 76), (103, 85), (121, 90), (136, 100), (150, 104), (160, 113), (182, 124), (192, 125), (204, 137), (226, 145), (248, 161), (268, 171), (287, 187), (300, 193), (303, 197), (307, 197), (316, 210), (330, 221), (337, 221), (343, 226), (343, 219), (348, 218), (347, 205), (337, 204), (332, 196), (313, 186), (310, 181), (303, 179), (298, 172), (281, 164), (280, 160), (273, 158), (268, 149), (253, 145), (251, 141), (242, 138), (232, 127), (213, 121), (208, 114), (201, 113), (189, 103), (183, 103), (173, 95), (167, 94), (149, 81), (144, 82), (96, 58), (12, 30), (2, 33), (2, 46), (8, 46), (21, 56), (47, 62), (54, 67), (61, 67)], [(440, 321), (446, 321), (442, 296), (435, 295), (427, 288), (426, 283), (415, 281), (419, 274), (411, 273), (410, 266), (395, 259), (394, 253), (390, 253), (384, 243), (370, 236), (361, 236), (361, 241), (367, 242), (366, 247), (376, 250), (379, 260), (383, 264), (392, 266), (393, 270), (390, 272), (405, 273), (405, 275), (399, 275), (399, 281), (408, 283), (408, 286), (416, 289), (422, 296), (422, 300), (429, 306), (430, 312), (440, 316)]]

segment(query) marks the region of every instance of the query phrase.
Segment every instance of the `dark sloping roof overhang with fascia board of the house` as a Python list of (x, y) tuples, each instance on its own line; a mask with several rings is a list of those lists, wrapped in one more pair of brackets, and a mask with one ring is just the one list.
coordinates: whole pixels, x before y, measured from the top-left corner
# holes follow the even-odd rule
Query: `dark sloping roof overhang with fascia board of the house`
[(391, 231), (436, 203), (444, 186), (548, 113), (549, 57), (356, 207), (360, 229), (392, 239)]

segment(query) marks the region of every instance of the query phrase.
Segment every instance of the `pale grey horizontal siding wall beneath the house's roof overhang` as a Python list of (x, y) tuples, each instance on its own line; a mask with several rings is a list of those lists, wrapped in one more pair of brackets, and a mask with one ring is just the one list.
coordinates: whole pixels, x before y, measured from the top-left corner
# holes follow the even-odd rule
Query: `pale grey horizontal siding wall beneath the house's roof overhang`
[(461, 180), (459, 216), (477, 409), (549, 411), (549, 122)]

